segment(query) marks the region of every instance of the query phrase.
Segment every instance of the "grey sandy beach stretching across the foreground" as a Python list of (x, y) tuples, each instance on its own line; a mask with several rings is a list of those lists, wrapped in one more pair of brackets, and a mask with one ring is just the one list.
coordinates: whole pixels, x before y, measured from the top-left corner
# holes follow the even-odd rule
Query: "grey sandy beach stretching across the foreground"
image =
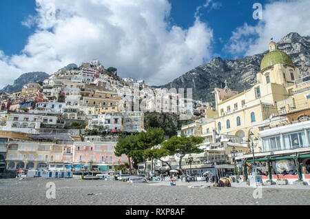
[[(53, 182), (56, 196), (46, 198)], [(23, 178), (0, 180), (0, 205), (310, 205), (310, 189), (262, 189), (253, 197), (251, 187), (169, 186), (161, 183), (123, 183), (76, 178)]]

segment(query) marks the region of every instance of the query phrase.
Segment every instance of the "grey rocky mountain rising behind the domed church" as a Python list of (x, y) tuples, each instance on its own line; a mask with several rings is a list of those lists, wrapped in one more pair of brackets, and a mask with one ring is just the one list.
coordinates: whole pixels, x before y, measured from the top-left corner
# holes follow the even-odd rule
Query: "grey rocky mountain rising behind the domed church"
[[(309, 74), (310, 36), (290, 33), (278, 42), (278, 50), (291, 56), (302, 76)], [(269, 51), (242, 59), (223, 60), (216, 57), (209, 63), (200, 65), (161, 87), (192, 88), (194, 99), (214, 102), (214, 94), (211, 92), (214, 91), (214, 87), (223, 87), (225, 80), (231, 89), (238, 92), (254, 85), (256, 73), (260, 71), (260, 62), (267, 52)]]

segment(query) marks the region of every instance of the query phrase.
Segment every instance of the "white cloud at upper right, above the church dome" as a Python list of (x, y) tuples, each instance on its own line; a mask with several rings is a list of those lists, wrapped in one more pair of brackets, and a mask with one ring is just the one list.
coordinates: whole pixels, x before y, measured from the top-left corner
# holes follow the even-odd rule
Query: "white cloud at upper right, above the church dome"
[(268, 50), (271, 37), (280, 41), (290, 32), (310, 34), (310, 1), (273, 1), (264, 6), (257, 25), (245, 23), (232, 33), (225, 50), (236, 56), (253, 55)]

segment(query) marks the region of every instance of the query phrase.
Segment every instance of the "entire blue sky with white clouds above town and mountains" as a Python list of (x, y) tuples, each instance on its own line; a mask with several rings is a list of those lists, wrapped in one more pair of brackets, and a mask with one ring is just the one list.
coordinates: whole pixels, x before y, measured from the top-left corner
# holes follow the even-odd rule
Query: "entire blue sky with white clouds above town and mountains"
[(271, 37), (309, 36), (309, 10), (309, 0), (2, 0), (0, 88), (94, 59), (164, 85), (216, 56), (265, 52)]

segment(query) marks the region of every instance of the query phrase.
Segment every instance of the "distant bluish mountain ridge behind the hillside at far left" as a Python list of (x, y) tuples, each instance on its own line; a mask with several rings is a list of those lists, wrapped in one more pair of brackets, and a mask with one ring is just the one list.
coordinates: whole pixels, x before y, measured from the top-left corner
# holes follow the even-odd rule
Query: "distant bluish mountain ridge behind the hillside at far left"
[(3, 87), (0, 92), (14, 92), (21, 90), (23, 85), (28, 83), (36, 83), (37, 81), (44, 81), (45, 79), (48, 79), (49, 76), (50, 75), (46, 74), (45, 72), (28, 72), (21, 74), (21, 76), (19, 76), (19, 78), (14, 81), (13, 85), (6, 85), (6, 87)]

